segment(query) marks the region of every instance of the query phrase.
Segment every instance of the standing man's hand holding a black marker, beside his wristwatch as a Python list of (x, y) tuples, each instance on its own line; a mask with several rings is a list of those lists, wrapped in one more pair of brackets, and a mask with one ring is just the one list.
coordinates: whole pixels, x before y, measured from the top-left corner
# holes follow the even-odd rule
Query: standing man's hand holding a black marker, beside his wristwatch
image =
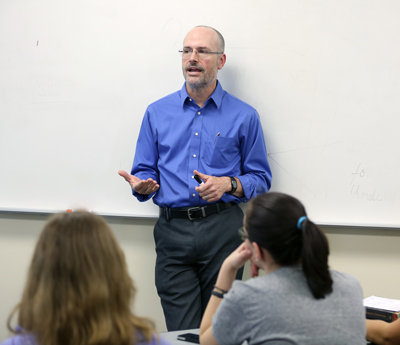
[(216, 202), (221, 199), (231, 184), (231, 179), (227, 176), (210, 176), (202, 174), (197, 170), (194, 170), (193, 173), (199, 175), (199, 177), (204, 181), (203, 185), (196, 187), (196, 191), (203, 200), (208, 202)]

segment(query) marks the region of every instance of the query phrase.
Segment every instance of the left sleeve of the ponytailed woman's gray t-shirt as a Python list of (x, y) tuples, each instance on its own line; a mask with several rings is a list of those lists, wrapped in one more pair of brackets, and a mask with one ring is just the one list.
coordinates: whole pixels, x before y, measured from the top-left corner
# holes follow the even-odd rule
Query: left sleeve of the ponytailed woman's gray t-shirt
[(249, 327), (241, 303), (243, 285), (234, 282), (212, 319), (212, 332), (220, 345), (242, 344), (249, 339)]

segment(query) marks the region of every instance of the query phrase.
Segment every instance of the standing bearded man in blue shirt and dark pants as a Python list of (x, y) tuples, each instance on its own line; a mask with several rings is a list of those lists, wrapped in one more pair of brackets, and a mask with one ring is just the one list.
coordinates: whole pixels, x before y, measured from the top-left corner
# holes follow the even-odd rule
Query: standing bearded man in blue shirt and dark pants
[(156, 286), (169, 331), (199, 327), (219, 268), (240, 244), (238, 204), (271, 186), (257, 111), (217, 80), (224, 48), (213, 28), (189, 31), (181, 51), (186, 82), (149, 105), (131, 174), (119, 172), (139, 201), (160, 207)]

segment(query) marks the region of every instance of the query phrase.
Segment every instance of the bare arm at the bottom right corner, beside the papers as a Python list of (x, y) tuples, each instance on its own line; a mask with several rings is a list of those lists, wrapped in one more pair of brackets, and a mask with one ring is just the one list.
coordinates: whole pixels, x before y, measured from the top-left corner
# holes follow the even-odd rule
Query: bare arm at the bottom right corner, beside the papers
[(382, 320), (366, 320), (367, 340), (378, 345), (400, 344), (400, 319), (392, 323)]

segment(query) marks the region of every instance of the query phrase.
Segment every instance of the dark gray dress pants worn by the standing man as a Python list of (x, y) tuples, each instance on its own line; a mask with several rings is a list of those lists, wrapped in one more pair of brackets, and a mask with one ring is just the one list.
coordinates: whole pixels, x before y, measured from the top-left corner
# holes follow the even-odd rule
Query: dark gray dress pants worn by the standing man
[(221, 264), (242, 242), (242, 225), (238, 205), (199, 220), (159, 218), (155, 280), (168, 331), (200, 327)]

